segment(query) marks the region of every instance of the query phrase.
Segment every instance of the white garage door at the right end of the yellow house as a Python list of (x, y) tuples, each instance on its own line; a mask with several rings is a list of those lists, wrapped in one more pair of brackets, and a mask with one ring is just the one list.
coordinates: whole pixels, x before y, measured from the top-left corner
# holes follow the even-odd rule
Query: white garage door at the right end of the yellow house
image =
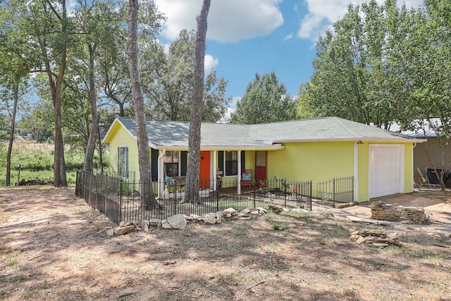
[(369, 197), (403, 192), (404, 146), (369, 146)]

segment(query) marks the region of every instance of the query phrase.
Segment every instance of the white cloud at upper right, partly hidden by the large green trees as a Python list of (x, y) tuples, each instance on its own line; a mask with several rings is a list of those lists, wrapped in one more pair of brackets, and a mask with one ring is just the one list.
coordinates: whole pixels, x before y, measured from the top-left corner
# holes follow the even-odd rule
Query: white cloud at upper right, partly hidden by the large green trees
[[(377, 0), (383, 4), (385, 0)], [(304, 39), (316, 39), (322, 35), (327, 27), (330, 27), (336, 20), (345, 16), (348, 4), (361, 4), (363, 0), (305, 0), (309, 13), (304, 16), (300, 23), (297, 37)], [(419, 7), (423, 0), (398, 0), (397, 5), (406, 4), (407, 8)]]

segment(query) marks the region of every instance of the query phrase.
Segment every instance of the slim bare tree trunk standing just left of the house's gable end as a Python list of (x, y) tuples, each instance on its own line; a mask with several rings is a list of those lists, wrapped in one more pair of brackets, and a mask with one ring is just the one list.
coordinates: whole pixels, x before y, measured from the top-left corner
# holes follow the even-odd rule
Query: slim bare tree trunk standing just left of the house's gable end
[(97, 114), (96, 85), (94, 80), (94, 57), (96, 56), (96, 45), (89, 44), (89, 99), (91, 101), (91, 130), (87, 140), (84, 171), (92, 173), (92, 158), (94, 157), (94, 149), (96, 148), (97, 133), (99, 132), (99, 116)]

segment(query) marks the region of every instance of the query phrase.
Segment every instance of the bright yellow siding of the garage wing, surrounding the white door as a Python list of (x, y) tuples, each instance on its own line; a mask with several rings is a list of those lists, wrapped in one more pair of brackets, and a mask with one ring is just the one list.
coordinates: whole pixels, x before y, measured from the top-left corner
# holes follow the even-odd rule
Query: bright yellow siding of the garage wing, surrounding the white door
[[(357, 147), (358, 176), (354, 185), (358, 202), (369, 199), (370, 143), (376, 142)], [(354, 142), (287, 143), (284, 150), (268, 152), (267, 173), (268, 179), (311, 180), (315, 193), (318, 182), (354, 176)], [(404, 192), (412, 192), (412, 143), (404, 143)]]

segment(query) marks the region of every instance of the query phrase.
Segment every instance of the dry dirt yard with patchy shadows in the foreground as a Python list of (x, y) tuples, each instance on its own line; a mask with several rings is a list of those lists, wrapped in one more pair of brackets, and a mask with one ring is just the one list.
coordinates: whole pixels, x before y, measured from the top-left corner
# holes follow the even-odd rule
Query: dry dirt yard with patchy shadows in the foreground
[[(451, 238), (427, 228), (294, 212), (109, 237), (113, 226), (72, 189), (0, 188), (0, 300), (451, 300)], [(357, 230), (402, 246), (358, 245)]]

